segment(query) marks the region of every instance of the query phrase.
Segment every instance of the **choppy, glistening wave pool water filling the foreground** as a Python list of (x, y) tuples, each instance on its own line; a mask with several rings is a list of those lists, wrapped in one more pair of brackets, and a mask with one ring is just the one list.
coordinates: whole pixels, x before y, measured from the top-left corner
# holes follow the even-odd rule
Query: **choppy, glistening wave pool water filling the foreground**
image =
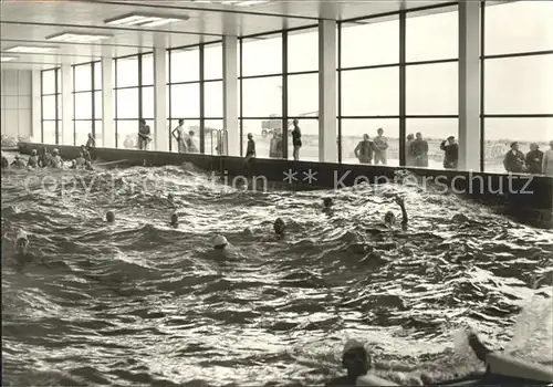
[[(479, 369), (467, 324), (551, 362), (551, 234), (476, 203), (401, 186), (247, 192), (185, 167), (83, 172), (86, 188), (63, 192), (29, 174), (2, 172), (7, 385), (312, 385), (340, 373), (347, 338), (367, 343), (383, 376), (420, 384)], [(374, 226), (399, 216), (396, 194), (407, 232)], [(331, 216), (315, 206), (328, 195)], [(271, 234), (276, 217), (285, 240)], [(22, 229), (34, 263), (15, 268)], [(210, 253), (218, 232), (240, 259)]]

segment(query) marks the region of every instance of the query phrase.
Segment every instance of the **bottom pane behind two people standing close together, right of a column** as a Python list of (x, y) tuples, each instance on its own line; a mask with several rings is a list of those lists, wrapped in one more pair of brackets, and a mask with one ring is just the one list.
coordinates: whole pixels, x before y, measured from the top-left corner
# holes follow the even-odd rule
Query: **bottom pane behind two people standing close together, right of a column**
[[(374, 140), (378, 135), (378, 128), (384, 129), (379, 140), (380, 148), (388, 147), (378, 154), (374, 151)], [(363, 140), (363, 136), (369, 136), (369, 143), (362, 144), (358, 150), (359, 158), (355, 157), (355, 148)], [(342, 163), (343, 164), (386, 164), (399, 165), (399, 119), (398, 118), (351, 118), (342, 119)]]

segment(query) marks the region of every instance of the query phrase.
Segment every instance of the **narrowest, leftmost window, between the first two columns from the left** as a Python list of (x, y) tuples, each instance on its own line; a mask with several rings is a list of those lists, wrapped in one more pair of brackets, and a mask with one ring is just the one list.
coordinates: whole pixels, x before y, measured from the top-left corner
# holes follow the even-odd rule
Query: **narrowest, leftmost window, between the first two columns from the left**
[(60, 144), (61, 140), (61, 71), (60, 69), (41, 72), (41, 143)]

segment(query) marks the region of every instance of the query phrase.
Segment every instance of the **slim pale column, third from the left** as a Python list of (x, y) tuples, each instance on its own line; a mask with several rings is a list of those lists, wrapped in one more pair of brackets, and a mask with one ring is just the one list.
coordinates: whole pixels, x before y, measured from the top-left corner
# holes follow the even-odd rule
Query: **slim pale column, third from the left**
[(113, 98), (115, 97), (113, 88), (115, 80), (113, 79), (113, 57), (111, 55), (102, 56), (102, 138), (96, 138), (96, 146), (104, 148), (115, 148), (115, 125), (113, 121)]

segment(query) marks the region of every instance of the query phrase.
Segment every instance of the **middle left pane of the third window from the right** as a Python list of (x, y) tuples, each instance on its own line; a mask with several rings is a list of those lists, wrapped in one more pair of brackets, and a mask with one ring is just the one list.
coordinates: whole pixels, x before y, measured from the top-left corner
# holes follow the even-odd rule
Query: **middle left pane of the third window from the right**
[(242, 80), (244, 117), (282, 116), (282, 76)]

